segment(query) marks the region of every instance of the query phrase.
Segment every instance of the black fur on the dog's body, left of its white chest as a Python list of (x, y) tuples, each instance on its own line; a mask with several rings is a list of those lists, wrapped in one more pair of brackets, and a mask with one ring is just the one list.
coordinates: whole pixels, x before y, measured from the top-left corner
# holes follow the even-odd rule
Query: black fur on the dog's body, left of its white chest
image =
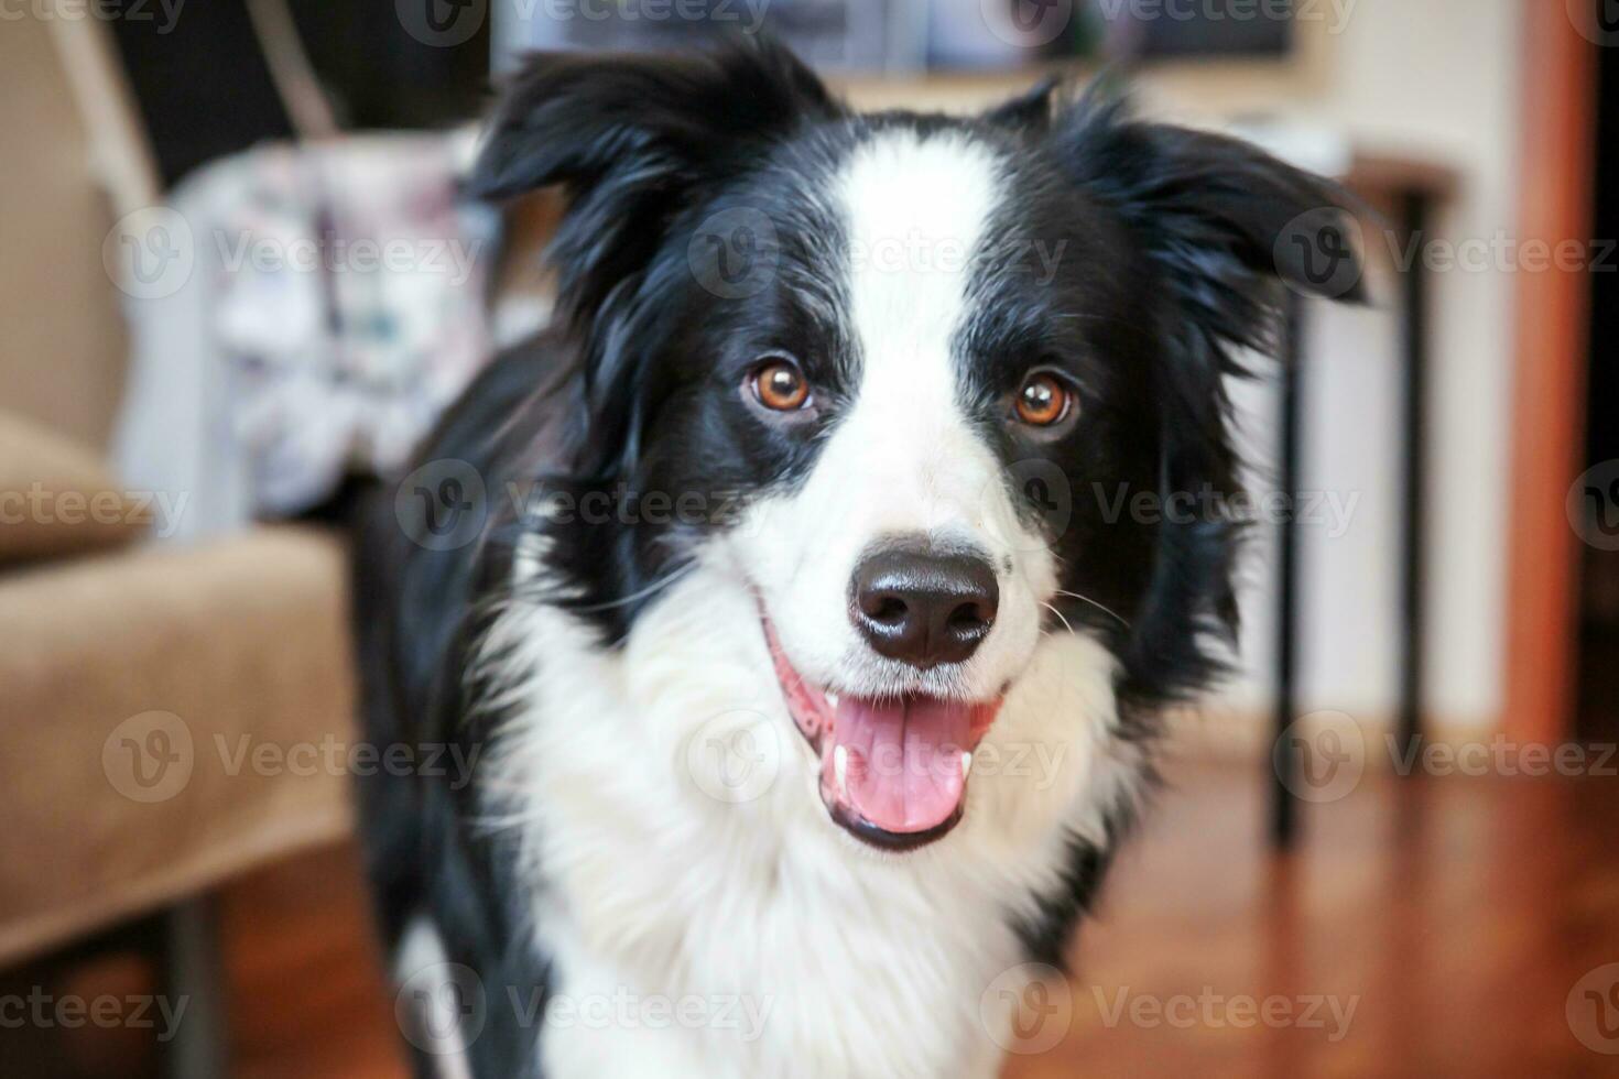
[[(544, 356), (539, 346), (491, 364), (423, 446), (423, 459), (466, 461), (492, 484), (525, 474), (526, 463), (544, 453), (549, 427), (529, 411), (554, 391)], [(418, 493), (390, 484), (374, 497), (356, 535), (355, 636), (366, 738), (379, 752), (455, 746), (460, 760), (476, 762), (492, 749), (500, 715), (478, 707), (484, 688), (468, 678), (470, 652), (521, 523), (502, 508), (508, 503), (484, 500), (473, 510), (487, 514), (473, 544), (423, 547), (414, 540), (429, 532), (414, 513), (427, 506)], [(377, 770), (358, 781), (377, 924), (392, 953), (410, 919), (429, 912), (448, 961), (478, 972), (484, 985), (489, 1021), (471, 1045), (474, 1073), (538, 1076), (538, 1030), (502, 1019), (510, 1016), (508, 990), (544, 998), (546, 964), (521, 946), (528, 912), (512, 878), (510, 836), (478, 825), (468, 778)], [(421, 1053), (416, 1069), (437, 1074)]]

